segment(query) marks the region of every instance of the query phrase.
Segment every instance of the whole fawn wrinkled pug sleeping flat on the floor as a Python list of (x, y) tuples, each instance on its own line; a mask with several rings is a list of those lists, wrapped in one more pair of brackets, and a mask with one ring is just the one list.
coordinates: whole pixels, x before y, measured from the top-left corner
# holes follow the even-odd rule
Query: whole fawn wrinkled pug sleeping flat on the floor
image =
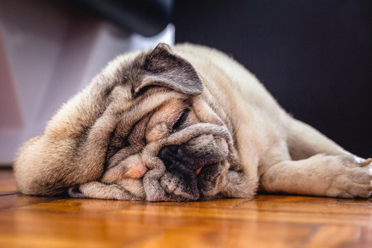
[(367, 198), (371, 162), (292, 118), (222, 52), (162, 43), (109, 63), (25, 143), (14, 174), (28, 195)]

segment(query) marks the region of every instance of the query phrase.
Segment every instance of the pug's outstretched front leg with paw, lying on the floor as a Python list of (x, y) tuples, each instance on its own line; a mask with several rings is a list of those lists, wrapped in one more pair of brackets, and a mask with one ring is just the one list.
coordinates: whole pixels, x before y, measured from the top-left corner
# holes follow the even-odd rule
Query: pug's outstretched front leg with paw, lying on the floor
[(371, 158), (360, 160), (349, 154), (282, 161), (262, 174), (260, 186), (267, 192), (366, 198), (372, 191), (371, 163)]

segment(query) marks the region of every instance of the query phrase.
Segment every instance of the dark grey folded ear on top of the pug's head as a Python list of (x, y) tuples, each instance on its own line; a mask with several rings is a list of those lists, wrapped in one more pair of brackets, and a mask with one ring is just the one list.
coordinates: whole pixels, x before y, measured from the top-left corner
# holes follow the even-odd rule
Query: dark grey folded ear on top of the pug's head
[(165, 43), (160, 43), (147, 54), (143, 69), (143, 80), (134, 88), (135, 94), (151, 85), (169, 87), (192, 96), (203, 92), (203, 83), (193, 66), (174, 54)]

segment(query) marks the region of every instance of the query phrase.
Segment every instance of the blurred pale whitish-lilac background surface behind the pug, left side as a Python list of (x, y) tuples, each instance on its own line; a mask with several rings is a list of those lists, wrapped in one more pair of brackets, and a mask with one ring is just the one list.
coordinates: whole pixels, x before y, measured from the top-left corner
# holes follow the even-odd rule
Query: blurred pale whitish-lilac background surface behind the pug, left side
[(0, 1), (0, 165), (116, 55), (174, 43), (172, 24), (148, 38), (37, 3)]

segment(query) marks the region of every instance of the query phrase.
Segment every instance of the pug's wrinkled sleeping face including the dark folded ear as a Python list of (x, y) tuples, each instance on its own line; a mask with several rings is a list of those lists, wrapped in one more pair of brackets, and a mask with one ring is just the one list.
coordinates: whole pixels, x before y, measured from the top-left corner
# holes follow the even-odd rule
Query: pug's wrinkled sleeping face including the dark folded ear
[(203, 100), (192, 65), (158, 45), (121, 68), (107, 111), (116, 116), (101, 181), (134, 198), (197, 200), (221, 194), (237, 163), (231, 134)]

